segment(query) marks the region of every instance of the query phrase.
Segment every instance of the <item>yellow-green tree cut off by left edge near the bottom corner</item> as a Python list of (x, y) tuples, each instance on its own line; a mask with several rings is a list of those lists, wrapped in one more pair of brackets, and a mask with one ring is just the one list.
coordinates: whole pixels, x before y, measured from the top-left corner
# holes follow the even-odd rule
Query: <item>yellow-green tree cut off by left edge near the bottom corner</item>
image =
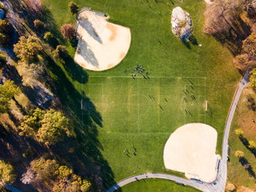
[(0, 183), (2, 185), (11, 185), (15, 180), (14, 167), (10, 163), (0, 160)]

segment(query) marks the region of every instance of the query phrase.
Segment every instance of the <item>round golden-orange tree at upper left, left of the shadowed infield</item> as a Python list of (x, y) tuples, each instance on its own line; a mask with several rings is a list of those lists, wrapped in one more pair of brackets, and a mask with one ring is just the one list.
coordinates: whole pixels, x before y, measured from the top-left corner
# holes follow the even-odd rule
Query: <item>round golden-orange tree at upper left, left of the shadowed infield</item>
[(40, 40), (33, 36), (29, 38), (22, 36), (19, 38), (18, 43), (14, 45), (14, 52), (22, 61), (29, 61), (35, 58), (41, 50)]

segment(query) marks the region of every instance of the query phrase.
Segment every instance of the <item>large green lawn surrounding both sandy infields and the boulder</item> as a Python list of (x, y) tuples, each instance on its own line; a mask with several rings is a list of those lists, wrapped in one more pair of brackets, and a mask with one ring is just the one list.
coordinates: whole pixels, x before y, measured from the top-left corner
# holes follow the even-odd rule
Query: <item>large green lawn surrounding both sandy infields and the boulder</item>
[[(50, 8), (58, 26), (75, 22), (67, 8), (68, 0), (43, 2)], [(194, 22), (194, 38), (202, 44), (196, 46), (183, 44), (171, 33), (170, 14), (174, 6), (170, 1), (74, 2), (80, 7), (92, 7), (110, 15), (110, 22), (130, 27), (132, 34), (126, 58), (111, 70), (86, 71), (89, 75), (86, 84), (78, 81), (79, 73), (72, 76), (66, 71), (66, 64), (59, 64), (74, 89), (79, 93), (84, 91), (102, 117), (98, 139), (102, 144), (102, 154), (114, 172), (115, 181), (146, 172), (184, 177), (184, 174), (164, 168), (162, 154), (170, 134), (189, 122), (206, 122), (213, 126), (218, 131), (217, 153), (221, 154), (226, 116), (239, 74), (234, 69), (230, 51), (213, 37), (202, 33), (205, 3), (202, 0), (173, 1), (175, 6), (182, 6), (190, 13)], [(123, 73), (123, 70), (138, 64), (145, 66), (150, 79), (133, 79)], [(55, 77), (54, 72), (52, 75)], [(187, 103), (183, 100), (184, 89), (190, 92), (186, 95)], [(149, 94), (154, 98), (150, 98)], [(195, 101), (190, 94), (194, 94)], [(66, 99), (71, 101), (73, 98), (70, 95)], [(207, 111), (204, 108), (206, 100)], [(87, 112), (90, 113), (86, 112), (90, 109), (88, 105), (86, 101), (82, 102), (82, 118), (87, 117)], [(185, 110), (192, 115), (186, 114)], [(126, 155), (123, 152), (125, 149), (130, 154)], [(130, 191), (136, 187), (130, 186)], [(177, 191), (182, 191), (182, 186), (179, 189)]]

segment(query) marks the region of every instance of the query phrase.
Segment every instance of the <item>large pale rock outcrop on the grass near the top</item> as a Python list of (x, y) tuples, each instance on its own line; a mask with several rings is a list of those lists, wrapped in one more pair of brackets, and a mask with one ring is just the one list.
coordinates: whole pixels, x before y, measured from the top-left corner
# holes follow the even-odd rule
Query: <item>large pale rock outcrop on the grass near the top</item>
[(180, 6), (174, 8), (171, 14), (172, 32), (182, 40), (190, 38), (193, 33), (190, 14), (182, 10)]

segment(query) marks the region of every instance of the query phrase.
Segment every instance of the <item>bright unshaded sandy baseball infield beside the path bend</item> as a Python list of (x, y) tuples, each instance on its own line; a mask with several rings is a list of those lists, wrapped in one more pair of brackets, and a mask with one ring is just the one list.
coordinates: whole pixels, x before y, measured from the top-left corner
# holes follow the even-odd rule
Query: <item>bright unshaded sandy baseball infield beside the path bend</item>
[(217, 131), (202, 123), (190, 123), (175, 130), (166, 142), (164, 164), (168, 170), (185, 173), (187, 178), (213, 182), (217, 177), (215, 154)]

